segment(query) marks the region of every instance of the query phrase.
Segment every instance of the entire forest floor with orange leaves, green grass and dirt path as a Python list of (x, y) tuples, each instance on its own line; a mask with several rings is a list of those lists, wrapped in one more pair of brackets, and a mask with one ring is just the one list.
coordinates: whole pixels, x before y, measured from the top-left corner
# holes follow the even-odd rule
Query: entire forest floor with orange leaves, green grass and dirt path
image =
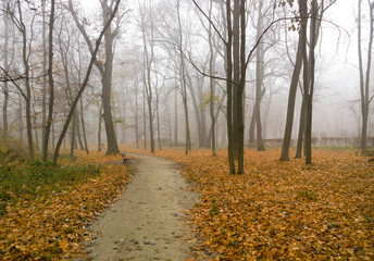
[(0, 166), (0, 260), (374, 260), (372, 152), (122, 150)]

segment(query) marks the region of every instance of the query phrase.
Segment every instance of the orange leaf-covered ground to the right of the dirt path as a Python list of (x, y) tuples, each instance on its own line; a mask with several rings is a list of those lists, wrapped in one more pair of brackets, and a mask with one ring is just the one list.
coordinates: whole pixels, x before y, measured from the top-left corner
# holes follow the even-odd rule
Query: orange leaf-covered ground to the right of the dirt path
[(200, 254), (374, 260), (374, 164), (354, 151), (315, 150), (314, 164), (306, 166), (303, 160), (279, 162), (279, 150), (247, 150), (240, 176), (227, 174), (225, 151), (216, 158), (208, 150), (155, 154), (179, 162), (202, 195), (190, 212), (203, 239)]

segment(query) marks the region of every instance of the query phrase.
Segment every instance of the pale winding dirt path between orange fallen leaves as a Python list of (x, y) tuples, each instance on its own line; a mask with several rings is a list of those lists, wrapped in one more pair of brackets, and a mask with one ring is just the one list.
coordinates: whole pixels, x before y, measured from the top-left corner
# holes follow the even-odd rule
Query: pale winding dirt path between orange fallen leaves
[(94, 260), (186, 260), (190, 235), (184, 210), (198, 195), (171, 161), (136, 156), (132, 164), (137, 167), (132, 183), (94, 223), (100, 235), (87, 252)]

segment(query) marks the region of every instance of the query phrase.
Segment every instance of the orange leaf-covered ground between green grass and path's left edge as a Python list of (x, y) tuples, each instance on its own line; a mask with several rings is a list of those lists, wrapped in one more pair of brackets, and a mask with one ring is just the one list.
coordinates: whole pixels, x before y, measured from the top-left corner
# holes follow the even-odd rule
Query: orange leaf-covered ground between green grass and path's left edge
[(76, 160), (61, 160), (62, 166), (94, 164), (101, 173), (36, 189), (28, 189), (26, 183), (23, 192), (11, 187), (7, 191), (11, 203), (0, 215), (0, 260), (63, 260), (78, 254), (80, 241), (89, 238), (87, 224), (129, 181), (128, 166), (108, 164), (120, 159), (80, 153)]

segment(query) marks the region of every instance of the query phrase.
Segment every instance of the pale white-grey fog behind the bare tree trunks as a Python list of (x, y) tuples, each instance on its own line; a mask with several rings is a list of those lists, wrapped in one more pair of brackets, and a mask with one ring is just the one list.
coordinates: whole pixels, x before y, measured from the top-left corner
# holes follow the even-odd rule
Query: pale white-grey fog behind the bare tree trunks
[[(7, 3), (13, 9), (7, 9)], [(109, 1), (111, 2), (111, 1)], [(114, 1), (113, 1), (114, 2)], [(211, 27), (209, 23), (210, 1), (197, 1), (200, 10), (190, 0), (158, 1), (122, 1), (112, 29), (116, 29), (113, 41), (113, 74), (111, 85), (111, 110), (114, 130), (119, 144), (137, 142), (139, 147), (148, 147), (150, 129), (154, 132), (157, 148), (184, 144), (188, 130), (194, 147), (210, 147), (211, 128), (210, 103), (213, 100), (213, 113), (216, 114), (216, 145), (227, 144), (226, 126), (226, 87), (225, 87), (225, 50), (217, 32), (224, 35), (221, 1), (213, 1)], [(264, 28), (279, 17), (292, 16), (298, 7), (280, 8), (274, 3), (279, 1), (247, 1), (247, 36), (246, 52), (255, 51), (260, 41), (266, 50), (264, 54), (264, 95), (260, 103), (262, 138), (264, 140), (282, 139), (285, 132), (288, 92), (296, 59), (298, 32), (289, 30), (290, 20), (280, 20), (259, 40), (257, 36), (259, 4), (262, 4)], [(326, 1), (329, 3), (329, 1)], [(367, 51), (369, 41), (369, 7), (363, 4), (362, 42)], [(297, 5), (297, 4), (296, 4)], [(326, 3), (327, 5), (327, 3)], [(1, 23), (8, 20), (10, 32), (5, 36), (4, 26), (0, 34), (0, 64), (2, 67), (2, 92), (0, 94), (0, 128), (15, 137), (26, 140), (25, 101), (22, 90), (25, 80), (14, 80), (25, 73), (22, 64), (22, 34), (17, 29), (15, 1), (1, 4)], [(177, 9), (179, 7), (179, 9)], [(315, 90), (313, 96), (314, 138), (359, 138), (361, 136), (360, 80), (358, 60), (358, 2), (338, 0), (323, 15), (321, 34), (315, 48)], [(90, 41), (99, 36), (102, 28), (102, 10), (100, 1), (73, 1), (78, 20), (85, 26)], [(46, 7), (48, 27), (49, 9)], [(53, 36), (53, 78), (55, 80), (55, 107), (53, 109), (54, 146), (61, 133), (64, 119), (70, 108), (70, 96), (77, 92), (83, 83), (90, 59), (90, 51), (82, 33), (77, 29), (68, 1), (57, 1), (57, 17)], [(22, 11), (27, 34), (27, 48), (30, 66), (32, 119), (34, 142), (41, 144), (43, 121), (42, 86), (47, 83), (41, 70), (42, 54), (42, 16), (38, 1), (23, 3)], [(15, 16), (7, 14), (14, 12)], [(204, 12), (204, 13), (203, 13)], [(7, 14), (7, 15), (5, 15)], [(209, 30), (211, 37), (209, 37)], [(180, 34), (182, 33), (182, 34)], [(45, 35), (47, 40), (48, 32)], [(180, 37), (182, 36), (182, 37)], [(209, 40), (211, 40), (210, 49)], [(5, 42), (7, 47), (5, 47)], [(7, 48), (7, 49), (5, 49)], [(366, 49), (365, 49), (366, 48)], [(213, 50), (213, 52), (212, 52)], [(66, 55), (67, 71), (64, 72), (63, 55)], [(366, 53), (366, 52), (364, 52)], [(108, 53), (107, 53), (108, 55)], [(5, 62), (5, 57), (8, 61)], [(363, 54), (365, 64), (367, 54)], [(209, 72), (210, 59), (214, 62), (214, 72)], [(246, 71), (245, 86), (245, 142), (250, 139), (250, 123), (255, 103), (255, 66), (257, 60), (250, 59)], [(9, 62), (11, 60), (11, 63)], [(99, 63), (105, 62), (104, 40), (98, 53)], [(45, 61), (46, 62), (46, 61)], [(212, 61), (211, 61), (212, 62)], [(5, 63), (9, 63), (8, 65)], [(183, 64), (183, 65), (182, 65)], [(8, 70), (7, 70), (8, 66)], [(7, 72), (8, 71), (8, 72)], [(210, 76), (214, 76), (215, 96), (210, 98)], [(12, 77), (12, 79), (10, 79)], [(370, 94), (373, 95), (374, 74), (371, 74)], [(66, 87), (70, 79), (71, 87)], [(302, 77), (300, 76), (300, 85)], [(9, 91), (4, 84), (8, 84)], [(66, 134), (63, 146), (67, 148), (68, 137), (77, 135), (77, 142), (84, 132), (87, 134), (90, 148), (105, 147), (104, 121), (101, 119), (101, 84), (102, 78), (97, 67), (92, 69), (88, 87), (83, 92), (82, 107), (77, 107), (77, 130), (72, 128)], [(71, 89), (70, 89), (71, 88)], [(72, 94), (68, 94), (68, 91)], [(301, 87), (298, 87), (292, 139), (297, 139), (300, 109), (302, 102)], [(151, 97), (150, 97), (151, 96)], [(5, 97), (9, 98), (5, 108)], [(184, 107), (184, 102), (186, 102)], [(48, 102), (47, 102), (48, 103)], [(373, 105), (370, 107), (367, 137), (374, 136)], [(82, 115), (80, 115), (80, 114)], [(4, 119), (8, 116), (7, 127)], [(186, 127), (188, 115), (189, 127)], [(150, 121), (150, 116), (152, 121)], [(85, 130), (82, 128), (85, 121)], [(100, 124), (100, 125), (99, 125)], [(150, 128), (150, 124), (152, 127)], [(100, 128), (99, 128), (100, 126)], [(79, 130), (80, 129), (80, 130)], [(101, 129), (101, 130), (100, 130)], [(99, 138), (100, 137), (100, 138)], [(162, 141), (162, 142), (161, 142)], [(271, 145), (271, 144), (267, 144)], [(279, 144), (276, 144), (279, 146)], [(37, 147), (41, 147), (37, 146)]]

